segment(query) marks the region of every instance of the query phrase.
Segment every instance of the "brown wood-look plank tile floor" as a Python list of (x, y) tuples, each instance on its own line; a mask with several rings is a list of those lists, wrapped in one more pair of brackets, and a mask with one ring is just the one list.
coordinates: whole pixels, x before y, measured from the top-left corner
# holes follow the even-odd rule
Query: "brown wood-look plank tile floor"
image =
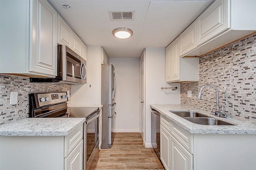
[(96, 170), (164, 170), (153, 148), (145, 148), (140, 133), (118, 132), (111, 149), (101, 149)]

